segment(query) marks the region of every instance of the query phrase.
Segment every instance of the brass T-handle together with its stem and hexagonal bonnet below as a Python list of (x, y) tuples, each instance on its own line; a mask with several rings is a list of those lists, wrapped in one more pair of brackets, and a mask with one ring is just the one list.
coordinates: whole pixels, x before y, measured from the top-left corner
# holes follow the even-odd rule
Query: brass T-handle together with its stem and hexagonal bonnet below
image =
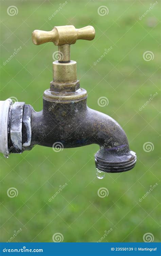
[(75, 44), (77, 40), (90, 41), (94, 37), (95, 30), (92, 26), (79, 29), (73, 25), (56, 26), (51, 31), (33, 31), (32, 40), (34, 44), (53, 42), (58, 46), (58, 52), (56, 52), (58, 61), (53, 62), (53, 81), (50, 83), (52, 99), (55, 97), (54, 92), (68, 91), (74, 93), (80, 88), (76, 74), (76, 61), (70, 60), (70, 45)]

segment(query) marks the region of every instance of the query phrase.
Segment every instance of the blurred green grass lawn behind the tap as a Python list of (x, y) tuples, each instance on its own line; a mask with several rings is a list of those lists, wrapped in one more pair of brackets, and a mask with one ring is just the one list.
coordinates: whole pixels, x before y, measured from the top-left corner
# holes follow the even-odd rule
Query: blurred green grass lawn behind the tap
[[(64, 1), (65, 2), (65, 1)], [(1, 1), (1, 100), (16, 97), (42, 109), (43, 91), (52, 81), (52, 43), (35, 46), (31, 33), (54, 26), (92, 25), (93, 41), (77, 41), (71, 46), (71, 59), (77, 61), (77, 77), (88, 92), (88, 106), (112, 116), (127, 134), (131, 150), (138, 156), (134, 169), (125, 173), (96, 177), (94, 153), (98, 145), (64, 149), (35, 146), (23, 154), (1, 154), (0, 220), (1, 241), (22, 231), (13, 242), (52, 242), (53, 234), (63, 242), (143, 242), (145, 233), (160, 241), (159, 175), (159, 85), (160, 85), (160, 2), (149, 9), (151, 1)], [(14, 5), (17, 15), (7, 14)], [(100, 6), (108, 15), (99, 15)], [(6, 65), (3, 63), (21, 50)], [(93, 63), (112, 50), (97, 65)], [(154, 59), (145, 61), (151, 51)], [(144, 109), (150, 95), (158, 93)], [(98, 98), (109, 104), (101, 107)], [(13, 98), (14, 99), (14, 98)], [(145, 152), (143, 145), (153, 144)], [(60, 186), (68, 185), (51, 201)], [(158, 184), (141, 202), (139, 199)], [(15, 187), (17, 197), (7, 196)], [(105, 187), (109, 195), (100, 198), (97, 190)], [(105, 236), (105, 230), (111, 232)]]

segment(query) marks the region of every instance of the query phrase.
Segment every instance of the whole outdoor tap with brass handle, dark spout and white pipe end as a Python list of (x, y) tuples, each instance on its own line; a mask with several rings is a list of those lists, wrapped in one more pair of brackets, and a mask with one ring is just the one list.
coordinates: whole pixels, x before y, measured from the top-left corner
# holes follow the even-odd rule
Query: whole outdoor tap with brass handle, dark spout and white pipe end
[(43, 93), (43, 109), (34, 111), (24, 102), (0, 101), (0, 152), (31, 150), (34, 145), (56, 148), (98, 144), (96, 168), (103, 172), (124, 172), (136, 163), (121, 126), (110, 116), (87, 106), (87, 91), (80, 87), (76, 61), (70, 60), (70, 45), (78, 39), (93, 40), (92, 26), (54, 27), (52, 31), (34, 30), (36, 45), (53, 42), (58, 60), (53, 62), (53, 80)]

